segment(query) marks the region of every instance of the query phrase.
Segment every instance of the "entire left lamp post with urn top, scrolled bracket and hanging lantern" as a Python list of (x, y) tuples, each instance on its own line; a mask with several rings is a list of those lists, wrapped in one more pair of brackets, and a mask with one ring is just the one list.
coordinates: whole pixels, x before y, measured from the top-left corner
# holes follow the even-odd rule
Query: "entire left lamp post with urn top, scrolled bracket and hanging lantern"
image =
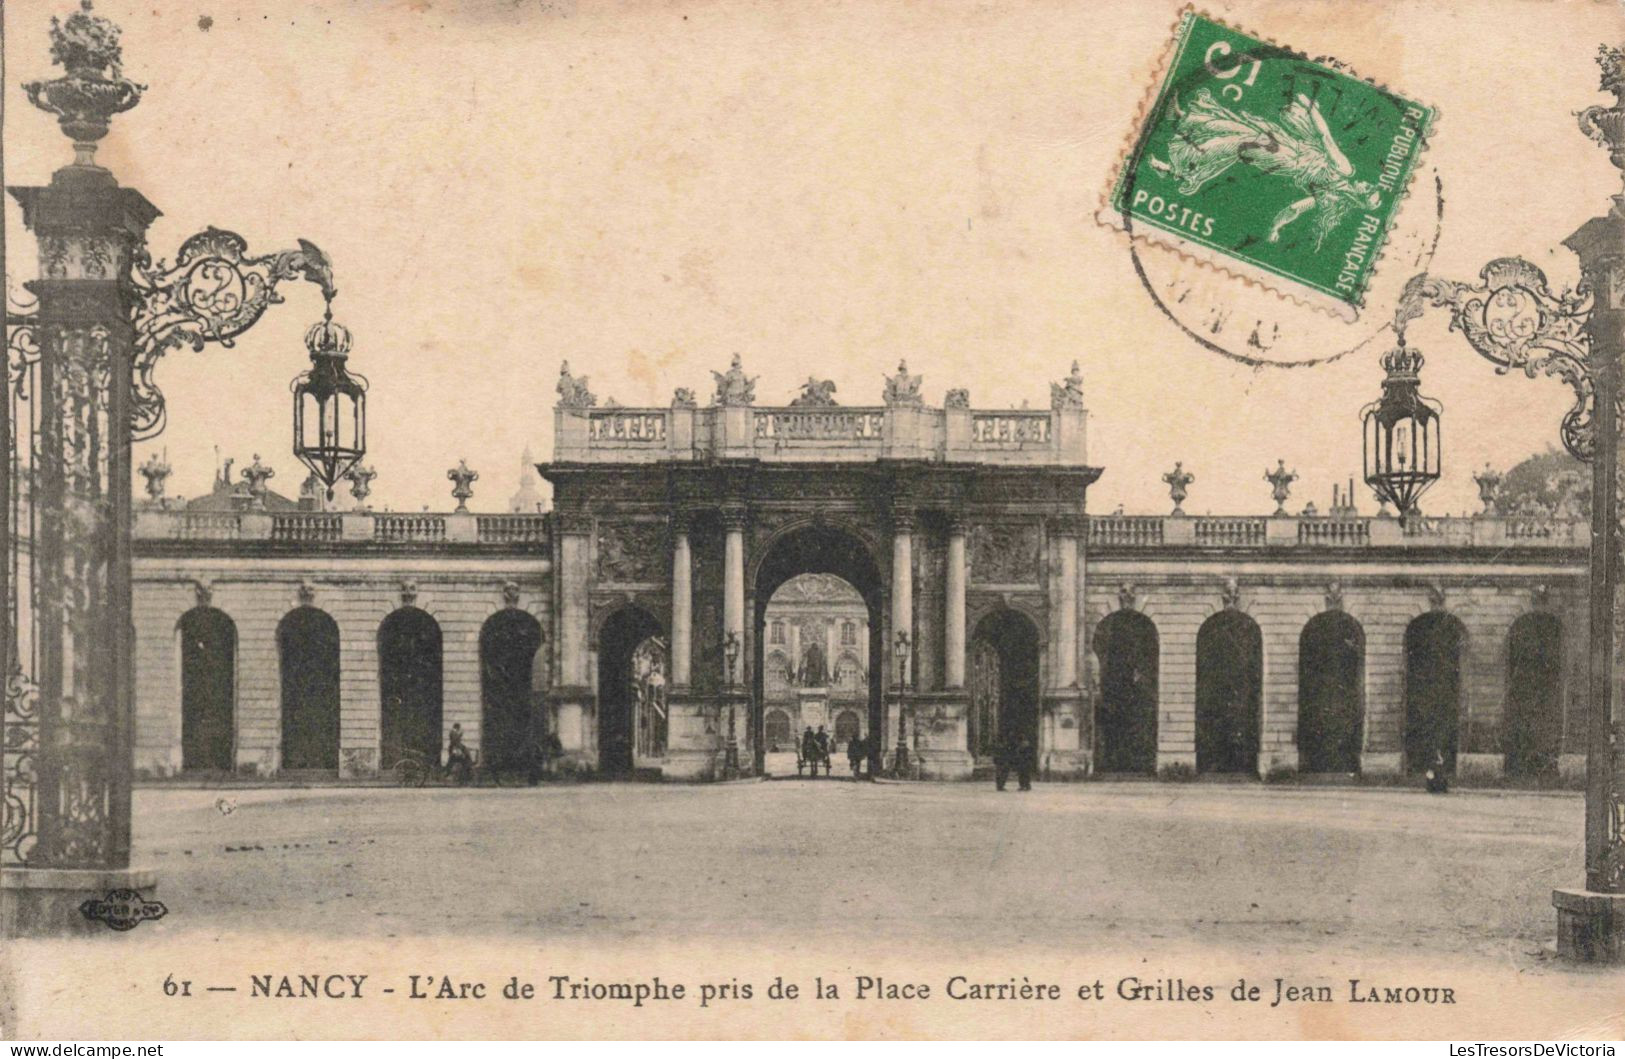
[[(94, 903), (86, 898), (156, 885), (153, 872), (130, 866), (130, 450), (164, 429), (153, 380), (159, 359), (180, 346), (231, 346), (283, 300), (284, 279), (315, 283), (328, 304), (335, 294), (327, 255), (304, 240), (250, 257), (239, 236), (210, 227), (180, 245), (174, 265), (154, 262), (146, 229), (158, 208), (96, 164), (96, 141), (145, 91), (124, 76), (119, 28), (83, 0), (52, 19), (50, 54), (62, 76), (24, 91), (57, 115), (75, 159), (47, 187), (8, 188), (39, 244), (39, 278), (24, 284), (34, 305), (6, 312), (0, 401), (6, 934), (98, 929), (80, 911)], [(323, 372), (318, 388), (343, 391), (354, 416), (359, 400), (341, 356), (348, 333), (330, 315), (318, 328), (310, 348)], [(328, 401), (323, 422), (344, 401)], [(335, 455), (320, 430), (312, 437), (310, 458)], [(340, 443), (359, 458), (362, 432), (341, 430)], [(136, 905), (143, 914), (159, 908)]]

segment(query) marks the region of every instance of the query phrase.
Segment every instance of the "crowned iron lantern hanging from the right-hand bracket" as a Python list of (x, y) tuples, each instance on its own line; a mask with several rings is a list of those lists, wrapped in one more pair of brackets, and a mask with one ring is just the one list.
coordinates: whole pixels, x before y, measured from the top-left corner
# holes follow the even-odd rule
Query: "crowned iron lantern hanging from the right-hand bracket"
[(1365, 484), (1399, 517), (1417, 513), (1417, 500), (1438, 481), (1438, 401), (1422, 396), (1422, 354), (1399, 346), (1383, 356), (1383, 396), (1365, 406)]

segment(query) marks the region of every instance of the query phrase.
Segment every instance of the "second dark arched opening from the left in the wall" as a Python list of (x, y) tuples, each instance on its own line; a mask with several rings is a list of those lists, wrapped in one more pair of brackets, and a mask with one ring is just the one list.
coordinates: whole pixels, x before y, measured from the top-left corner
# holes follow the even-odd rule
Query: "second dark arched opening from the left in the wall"
[(338, 622), (302, 606), (276, 627), (283, 674), (283, 770), (338, 768)]

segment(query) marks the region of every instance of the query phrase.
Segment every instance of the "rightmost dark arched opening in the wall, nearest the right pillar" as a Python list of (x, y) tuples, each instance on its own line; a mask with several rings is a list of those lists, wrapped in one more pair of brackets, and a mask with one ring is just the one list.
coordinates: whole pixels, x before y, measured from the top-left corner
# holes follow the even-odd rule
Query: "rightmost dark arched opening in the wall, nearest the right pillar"
[(1563, 622), (1555, 614), (1524, 614), (1506, 633), (1508, 776), (1557, 772), (1563, 739)]

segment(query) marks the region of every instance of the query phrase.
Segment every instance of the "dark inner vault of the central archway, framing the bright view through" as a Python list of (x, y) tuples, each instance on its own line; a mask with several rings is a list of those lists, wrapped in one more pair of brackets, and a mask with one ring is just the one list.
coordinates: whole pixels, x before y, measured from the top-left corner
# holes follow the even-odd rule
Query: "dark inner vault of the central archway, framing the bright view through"
[[(765, 768), (765, 728), (764, 728), (764, 653), (767, 642), (767, 606), (786, 581), (804, 573), (827, 573), (840, 578), (863, 599), (869, 614), (869, 668), (868, 668), (868, 715), (869, 733), (884, 729), (884, 679), (887, 666), (876, 664), (876, 659), (889, 659), (886, 651), (886, 581), (881, 565), (876, 560), (868, 541), (855, 530), (822, 521), (803, 523), (785, 530), (769, 541), (760, 560), (756, 564), (751, 596), (756, 603), (752, 625), (751, 687), (752, 718), (751, 746), (756, 759), (756, 770)], [(793, 663), (795, 664), (795, 663)], [(873, 770), (881, 768), (881, 739), (873, 739), (869, 746), (869, 763)]]

